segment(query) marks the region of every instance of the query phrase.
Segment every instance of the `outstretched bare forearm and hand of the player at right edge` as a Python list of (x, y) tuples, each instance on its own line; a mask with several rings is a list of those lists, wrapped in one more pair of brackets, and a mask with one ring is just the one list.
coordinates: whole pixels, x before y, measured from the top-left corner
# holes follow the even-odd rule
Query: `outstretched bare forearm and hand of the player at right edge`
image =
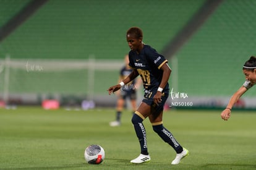
[(231, 116), (231, 109), (233, 108), (234, 104), (239, 100), (239, 98), (247, 91), (248, 89), (242, 86), (239, 90), (234, 93), (234, 95), (230, 98), (226, 109), (224, 109), (221, 113), (221, 118), (224, 121), (228, 121), (229, 117)]

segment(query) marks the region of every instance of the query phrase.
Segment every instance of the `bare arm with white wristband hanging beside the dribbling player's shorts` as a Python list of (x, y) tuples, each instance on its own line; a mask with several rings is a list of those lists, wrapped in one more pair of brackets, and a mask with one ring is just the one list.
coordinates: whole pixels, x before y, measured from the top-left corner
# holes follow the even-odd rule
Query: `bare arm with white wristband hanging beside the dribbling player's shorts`
[(156, 104), (161, 102), (162, 90), (168, 83), (169, 77), (171, 75), (171, 68), (168, 66), (167, 63), (164, 63), (160, 69), (163, 70), (163, 77), (162, 77), (161, 83), (158, 87), (158, 90), (157, 90), (155, 96), (153, 97), (154, 103), (156, 103)]

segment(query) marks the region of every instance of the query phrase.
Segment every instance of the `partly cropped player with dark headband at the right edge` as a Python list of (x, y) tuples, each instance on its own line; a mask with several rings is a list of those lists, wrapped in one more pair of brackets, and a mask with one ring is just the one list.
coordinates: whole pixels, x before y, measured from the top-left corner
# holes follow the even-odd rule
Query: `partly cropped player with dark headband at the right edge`
[(246, 80), (242, 87), (240, 87), (236, 93), (234, 93), (229, 100), (226, 109), (224, 109), (221, 113), (221, 118), (224, 121), (228, 121), (229, 117), (231, 116), (231, 109), (236, 101), (239, 100), (239, 98), (256, 83), (256, 57), (251, 56), (250, 59), (245, 62), (244, 66), (242, 67), (242, 71), (244, 72)]

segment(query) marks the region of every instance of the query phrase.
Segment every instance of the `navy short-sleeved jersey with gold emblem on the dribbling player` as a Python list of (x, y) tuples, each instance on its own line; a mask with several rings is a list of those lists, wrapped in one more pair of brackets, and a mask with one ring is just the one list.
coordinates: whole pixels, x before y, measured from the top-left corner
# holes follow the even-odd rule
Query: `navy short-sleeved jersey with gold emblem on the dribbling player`
[[(164, 56), (148, 45), (144, 45), (139, 54), (136, 51), (129, 52), (129, 66), (139, 72), (145, 90), (157, 90), (163, 77), (160, 68), (166, 62)], [(168, 83), (164, 89), (169, 89)]]

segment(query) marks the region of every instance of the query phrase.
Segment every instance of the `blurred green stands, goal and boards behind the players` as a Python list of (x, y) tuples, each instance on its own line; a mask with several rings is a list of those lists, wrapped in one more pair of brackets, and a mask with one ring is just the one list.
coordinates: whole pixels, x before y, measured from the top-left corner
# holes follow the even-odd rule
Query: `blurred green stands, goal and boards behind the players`
[[(0, 0), (0, 107), (116, 106), (126, 31), (169, 61), (169, 108), (224, 108), (255, 56), (254, 0)], [(139, 98), (143, 88), (139, 88)], [(140, 101), (140, 100), (139, 100)], [(255, 109), (250, 89), (236, 108)]]

